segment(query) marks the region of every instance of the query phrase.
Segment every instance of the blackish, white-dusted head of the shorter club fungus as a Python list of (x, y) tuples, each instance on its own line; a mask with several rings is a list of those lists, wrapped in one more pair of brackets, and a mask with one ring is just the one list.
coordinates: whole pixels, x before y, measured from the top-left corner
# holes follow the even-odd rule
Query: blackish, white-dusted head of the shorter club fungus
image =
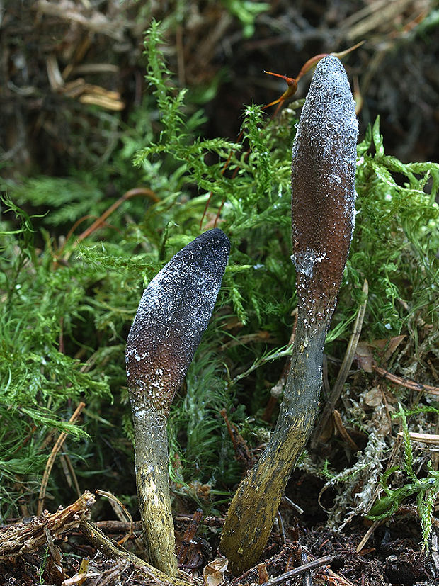
[(229, 257), (215, 228), (181, 249), (149, 283), (127, 339), (132, 402), (167, 415), (209, 323)]

